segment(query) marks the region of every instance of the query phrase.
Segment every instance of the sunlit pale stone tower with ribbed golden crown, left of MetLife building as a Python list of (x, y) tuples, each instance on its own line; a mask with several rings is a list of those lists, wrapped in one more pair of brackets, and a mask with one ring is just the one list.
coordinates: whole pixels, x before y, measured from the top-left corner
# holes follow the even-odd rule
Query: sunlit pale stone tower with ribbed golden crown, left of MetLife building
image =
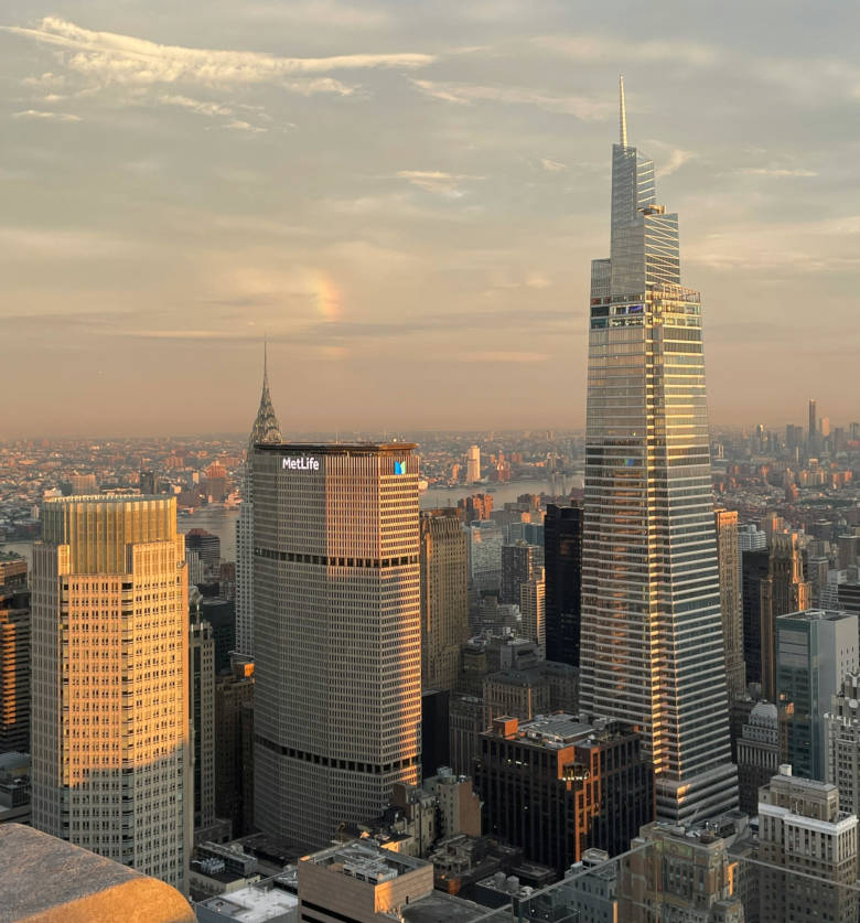
[(71, 496), (33, 548), (33, 826), (187, 890), (184, 537), (170, 497)]

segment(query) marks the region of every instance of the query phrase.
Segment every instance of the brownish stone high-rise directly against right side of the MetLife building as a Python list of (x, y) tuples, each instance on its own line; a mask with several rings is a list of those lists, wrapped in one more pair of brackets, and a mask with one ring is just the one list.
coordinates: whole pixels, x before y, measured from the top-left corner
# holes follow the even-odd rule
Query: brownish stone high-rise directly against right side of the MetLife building
[(450, 691), (469, 641), (466, 534), (456, 509), (421, 513), (421, 686)]

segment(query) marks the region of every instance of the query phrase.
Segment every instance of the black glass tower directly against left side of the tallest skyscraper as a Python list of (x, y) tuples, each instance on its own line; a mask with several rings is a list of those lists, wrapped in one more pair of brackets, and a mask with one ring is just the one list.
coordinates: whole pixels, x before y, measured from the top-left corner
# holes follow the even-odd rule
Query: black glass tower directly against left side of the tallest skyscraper
[(547, 659), (579, 666), (582, 509), (547, 506), (544, 517)]

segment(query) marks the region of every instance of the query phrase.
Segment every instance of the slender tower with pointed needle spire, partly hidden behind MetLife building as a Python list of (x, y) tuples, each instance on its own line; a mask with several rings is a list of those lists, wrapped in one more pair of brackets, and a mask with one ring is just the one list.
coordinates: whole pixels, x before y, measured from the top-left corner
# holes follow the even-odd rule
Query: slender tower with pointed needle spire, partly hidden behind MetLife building
[(241, 505), (236, 522), (236, 650), (254, 657), (254, 446), (280, 442), (281, 428), (269, 396), (268, 355), (264, 352), (262, 394), (257, 419), (248, 437), (241, 481)]

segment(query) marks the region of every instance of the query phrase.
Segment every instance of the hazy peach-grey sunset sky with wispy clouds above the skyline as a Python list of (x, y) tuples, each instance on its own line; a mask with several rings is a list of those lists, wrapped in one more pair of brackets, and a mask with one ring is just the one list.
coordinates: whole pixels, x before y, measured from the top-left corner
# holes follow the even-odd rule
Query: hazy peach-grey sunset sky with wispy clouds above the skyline
[(711, 421), (860, 419), (860, 7), (3, 0), (0, 439), (573, 428), (631, 143)]

